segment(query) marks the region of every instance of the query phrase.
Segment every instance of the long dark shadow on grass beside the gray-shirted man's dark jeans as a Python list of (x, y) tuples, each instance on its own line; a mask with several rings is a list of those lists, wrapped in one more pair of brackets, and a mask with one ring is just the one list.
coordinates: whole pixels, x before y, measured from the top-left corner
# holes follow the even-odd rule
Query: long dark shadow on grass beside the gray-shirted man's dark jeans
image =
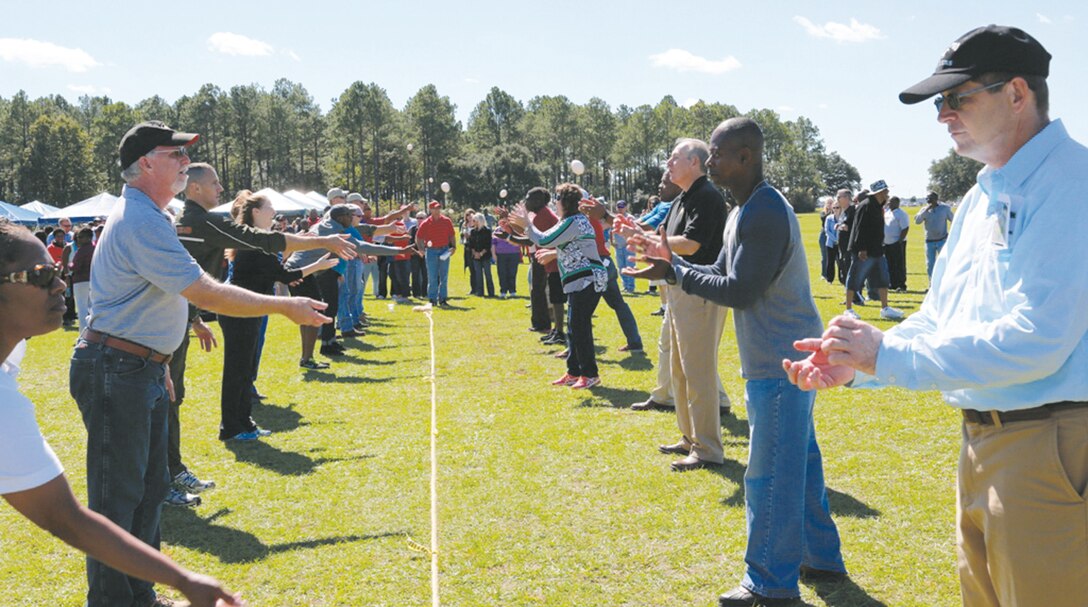
[(214, 555), (220, 562), (236, 563), (264, 560), (269, 556), (280, 553), (405, 535), (404, 531), (388, 531), (267, 545), (248, 531), (215, 522), (217, 519), (230, 513), (230, 509), (222, 508), (209, 517), (201, 517), (196, 510), (189, 508), (164, 508), (162, 510), (162, 540), (174, 546), (185, 546), (193, 550)]

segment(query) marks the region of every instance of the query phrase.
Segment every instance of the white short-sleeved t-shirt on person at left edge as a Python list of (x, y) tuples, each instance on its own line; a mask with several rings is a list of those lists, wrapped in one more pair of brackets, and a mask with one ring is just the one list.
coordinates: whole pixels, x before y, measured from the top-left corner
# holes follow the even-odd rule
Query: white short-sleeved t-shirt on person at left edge
[(64, 472), (41, 436), (34, 404), (15, 382), (25, 351), (21, 342), (0, 364), (0, 495), (41, 486)]

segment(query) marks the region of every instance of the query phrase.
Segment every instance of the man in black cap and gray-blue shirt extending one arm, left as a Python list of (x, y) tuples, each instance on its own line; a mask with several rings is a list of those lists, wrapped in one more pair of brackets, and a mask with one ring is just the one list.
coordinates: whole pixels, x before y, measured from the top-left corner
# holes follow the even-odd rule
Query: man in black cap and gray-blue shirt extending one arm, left
[[(302, 324), (327, 321), (323, 304), (268, 297), (209, 277), (177, 240), (163, 213), (185, 189), (188, 147), (198, 136), (161, 122), (137, 124), (121, 139), (126, 185), (95, 249), (91, 315), (72, 355), (70, 382), (87, 429), (87, 500), (140, 541), (159, 545), (170, 487), (166, 363), (182, 343), (186, 299), (234, 317), (282, 313)], [(87, 605), (170, 605), (149, 582), (87, 560)]]

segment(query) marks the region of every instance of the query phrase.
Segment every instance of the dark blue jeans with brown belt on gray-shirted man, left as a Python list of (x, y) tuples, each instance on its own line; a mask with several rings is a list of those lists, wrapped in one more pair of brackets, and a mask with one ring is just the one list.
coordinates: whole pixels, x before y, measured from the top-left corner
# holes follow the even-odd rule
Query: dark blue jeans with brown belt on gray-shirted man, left
[[(69, 386), (87, 429), (87, 505), (159, 548), (166, 468), (165, 364), (79, 340)], [(87, 606), (150, 605), (150, 582), (87, 558)]]

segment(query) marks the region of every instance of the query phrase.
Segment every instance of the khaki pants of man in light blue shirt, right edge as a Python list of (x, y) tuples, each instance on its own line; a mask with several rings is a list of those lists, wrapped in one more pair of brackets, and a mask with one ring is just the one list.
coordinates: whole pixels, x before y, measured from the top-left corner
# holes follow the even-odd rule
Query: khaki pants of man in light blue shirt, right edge
[(965, 423), (956, 556), (967, 607), (1088, 605), (1088, 409)]

